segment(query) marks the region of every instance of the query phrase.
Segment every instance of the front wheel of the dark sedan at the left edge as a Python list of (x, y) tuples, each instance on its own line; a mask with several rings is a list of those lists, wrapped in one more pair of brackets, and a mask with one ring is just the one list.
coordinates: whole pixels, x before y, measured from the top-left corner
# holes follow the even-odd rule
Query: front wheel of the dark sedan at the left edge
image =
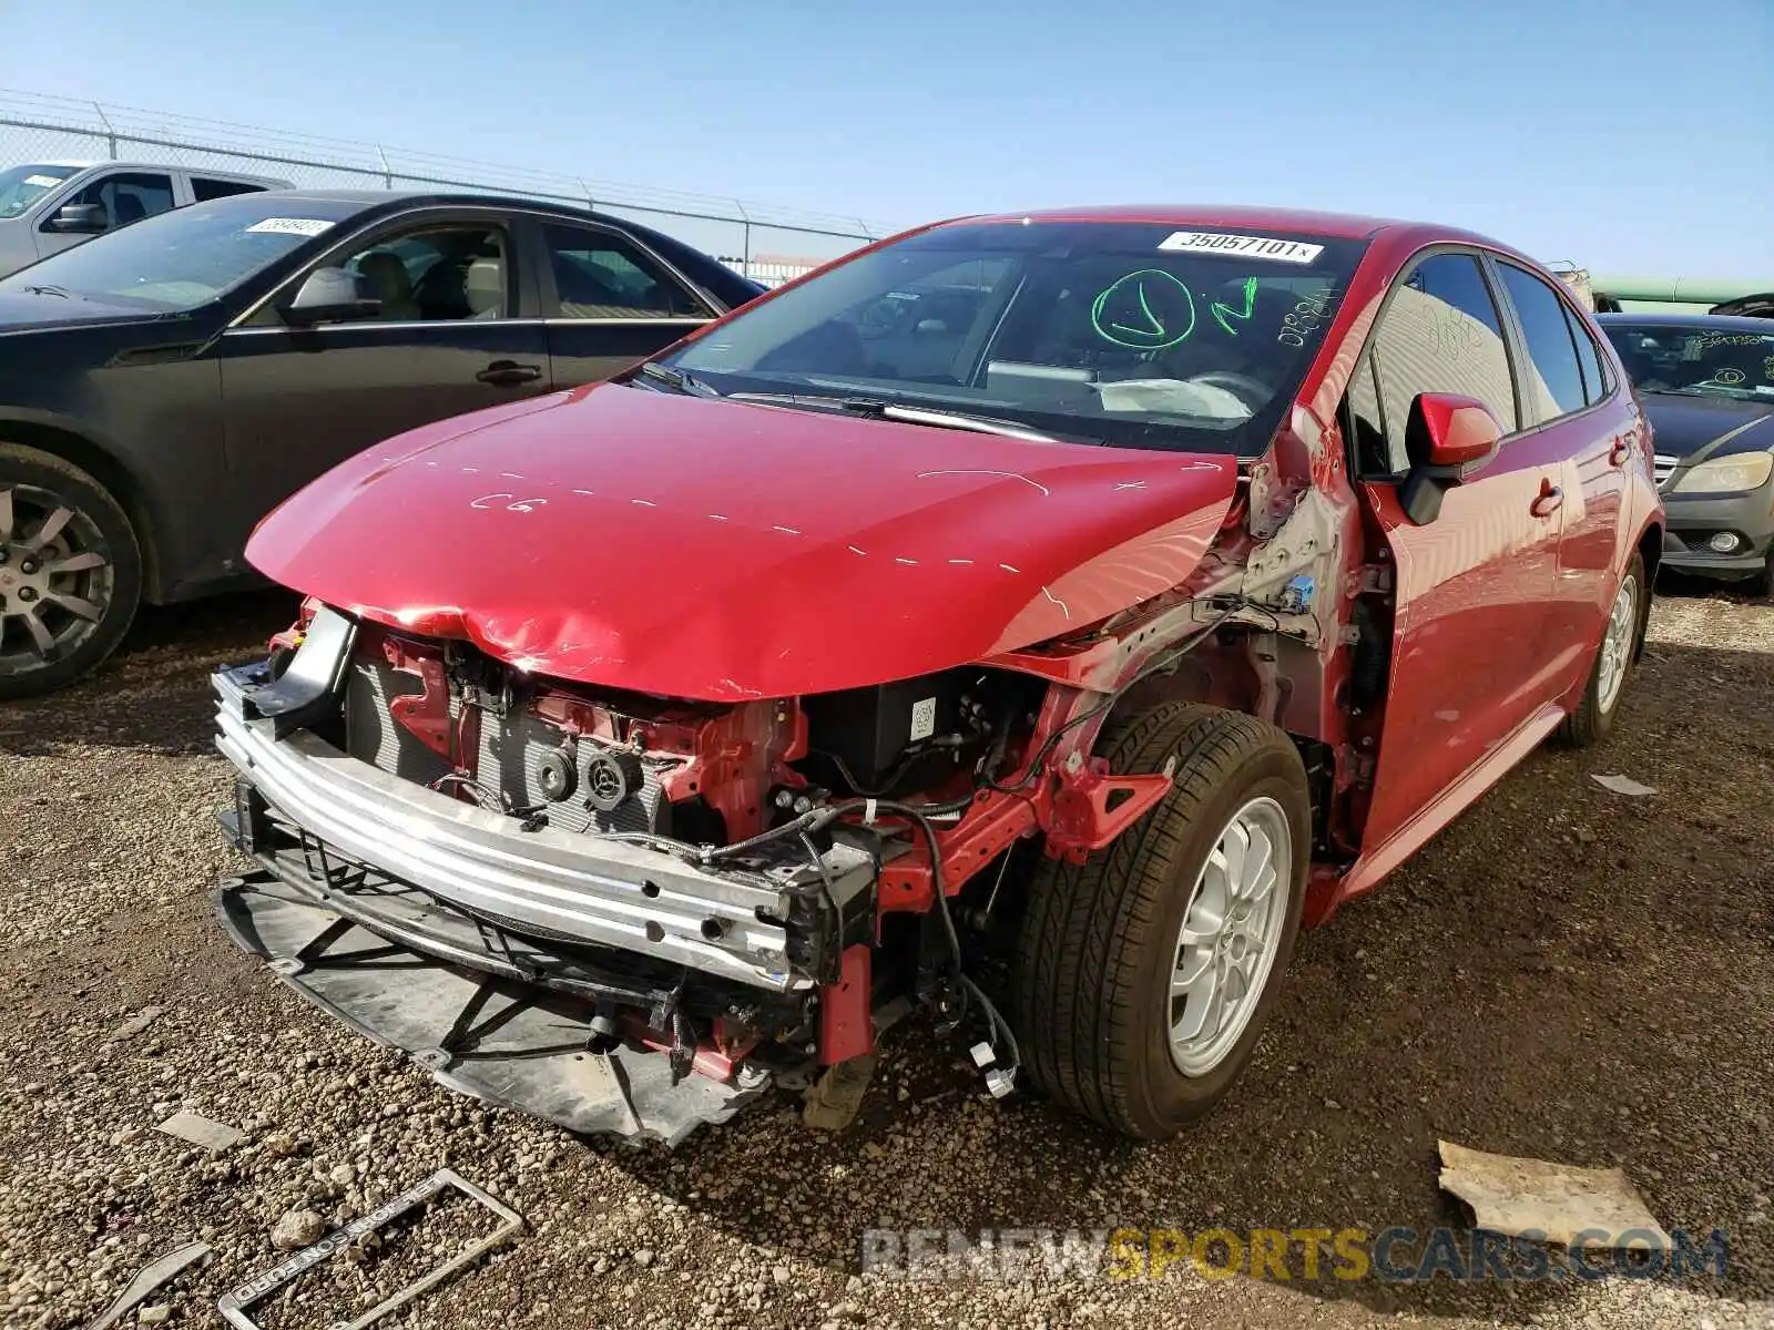
[(0, 699), (90, 670), (140, 594), (142, 553), (110, 491), (60, 458), (0, 443)]

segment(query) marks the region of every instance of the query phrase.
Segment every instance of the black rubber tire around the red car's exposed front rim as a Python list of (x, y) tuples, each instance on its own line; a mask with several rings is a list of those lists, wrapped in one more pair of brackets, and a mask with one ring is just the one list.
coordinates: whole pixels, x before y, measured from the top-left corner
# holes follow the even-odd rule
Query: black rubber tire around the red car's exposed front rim
[[(1174, 786), (1086, 864), (1041, 860), (1011, 1011), (1040, 1089), (1114, 1131), (1162, 1140), (1226, 1096), (1263, 1032), (1300, 929), (1311, 794), (1293, 741), (1236, 711), (1164, 702), (1112, 725), (1100, 750), (1121, 773), (1162, 771), (1174, 757)], [(1260, 796), (1276, 800), (1291, 832), (1276, 956), (1242, 1037), (1206, 1075), (1185, 1076), (1169, 1043), (1178, 936), (1208, 855)]]

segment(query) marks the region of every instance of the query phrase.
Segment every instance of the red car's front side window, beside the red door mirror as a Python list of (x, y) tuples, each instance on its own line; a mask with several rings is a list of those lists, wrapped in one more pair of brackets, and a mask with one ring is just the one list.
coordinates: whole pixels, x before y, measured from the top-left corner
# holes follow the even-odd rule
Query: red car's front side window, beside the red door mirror
[[(1357, 452), (1370, 473), (1398, 475), (1409, 468), (1405, 422), (1410, 403), (1423, 392), (1455, 392), (1476, 397), (1497, 417), (1504, 434), (1515, 433), (1515, 390), (1510, 355), (1503, 342), (1503, 319), (1485, 282), (1485, 270), (1471, 254), (1433, 254), (1393, 291), (1370, 340), (1375, 376), (1377, 419), (1384, 440), (1373, 458)], [(1359, 379), (1357, 379), (1359, 387)], [(1362, 403), (1350, 388), (1352, 408)], [(1361, 440), (1355, 440), (1357, 447)]]

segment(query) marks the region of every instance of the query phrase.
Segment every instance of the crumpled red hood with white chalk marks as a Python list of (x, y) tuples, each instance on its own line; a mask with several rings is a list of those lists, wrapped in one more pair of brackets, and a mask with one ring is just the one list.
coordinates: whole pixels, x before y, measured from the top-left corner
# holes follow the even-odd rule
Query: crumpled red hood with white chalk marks
[(247, 557), (536, 674), (791, 697), (965, 665), (1176, 585), (1236, 473), (598, 385), (374, 447)]

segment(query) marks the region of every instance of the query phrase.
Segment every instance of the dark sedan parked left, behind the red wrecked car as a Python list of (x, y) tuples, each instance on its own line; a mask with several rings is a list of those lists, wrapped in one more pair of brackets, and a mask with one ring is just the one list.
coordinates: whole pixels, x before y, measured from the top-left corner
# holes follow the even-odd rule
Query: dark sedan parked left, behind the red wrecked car
[(193, 204), (0, 280), (0, 699), (390, 434), (608, 378), (763, 287), (633, 222), (483, 195)]

